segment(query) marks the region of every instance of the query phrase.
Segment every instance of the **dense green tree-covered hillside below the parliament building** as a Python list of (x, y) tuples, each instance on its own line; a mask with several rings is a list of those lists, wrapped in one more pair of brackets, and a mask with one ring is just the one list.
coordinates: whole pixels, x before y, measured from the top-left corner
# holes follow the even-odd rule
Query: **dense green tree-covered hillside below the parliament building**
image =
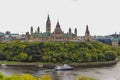
[(100, 42), (0, 43), (0, 60), (20, 62), (95, 62), (115, 60), (119, 47)]

